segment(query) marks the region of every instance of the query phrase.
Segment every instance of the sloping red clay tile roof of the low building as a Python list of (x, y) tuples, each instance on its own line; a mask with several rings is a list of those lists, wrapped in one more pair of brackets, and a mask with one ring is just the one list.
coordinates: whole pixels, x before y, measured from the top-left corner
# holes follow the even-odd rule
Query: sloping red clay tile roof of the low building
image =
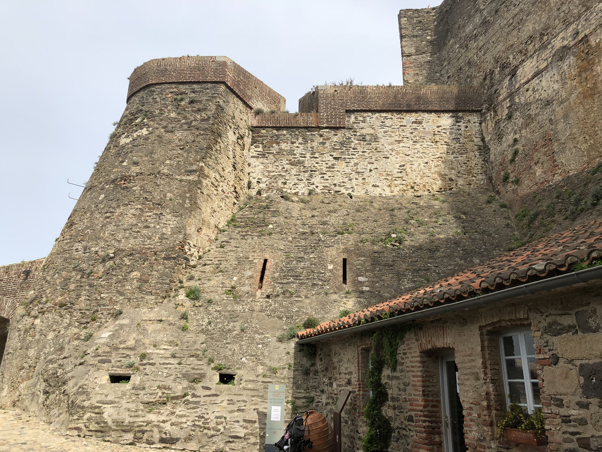
[[(489, 262), (451, 278), (445, 278), (412, 292), (375, 304), (367, 309), (315, 328), (300, 331), (299, 339), (319, 336), (331, 331), (355, 327), (363, 321), (380, 320), (389, 315), (400, 315), (428, 309), (443, 303), (464, 300), (470, 295), (482, 295), (505, 289), (506, 286), (571, 271), (571, 264), (590, 262), (602, 256), (602, 219), (579, 225), (545, 239), (521, 246), (512, 253), (503, 254)], [(552, 272), (552, 274), (550, 274)]]

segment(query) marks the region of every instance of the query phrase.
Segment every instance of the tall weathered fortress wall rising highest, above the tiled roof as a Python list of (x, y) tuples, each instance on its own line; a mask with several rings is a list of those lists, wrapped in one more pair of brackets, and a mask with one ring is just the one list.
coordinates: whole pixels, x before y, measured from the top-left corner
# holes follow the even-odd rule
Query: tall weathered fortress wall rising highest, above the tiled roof
[(486, 87), (487, 176), (515, 212), (537, 218), (523, 233), (544, 236), (594, 218), (600, 2), (445, 1), (400, 11), (399, 25), (406, 85)]

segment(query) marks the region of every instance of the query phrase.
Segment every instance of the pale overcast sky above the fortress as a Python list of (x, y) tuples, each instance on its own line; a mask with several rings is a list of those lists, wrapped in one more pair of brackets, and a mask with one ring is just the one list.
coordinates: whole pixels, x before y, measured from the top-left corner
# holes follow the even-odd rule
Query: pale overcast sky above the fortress
[(152, 58), (226, 55), (281, 93), (402, 84), (397, 13), (440, 0), (0, 0), (0, 265), (45, 257)]

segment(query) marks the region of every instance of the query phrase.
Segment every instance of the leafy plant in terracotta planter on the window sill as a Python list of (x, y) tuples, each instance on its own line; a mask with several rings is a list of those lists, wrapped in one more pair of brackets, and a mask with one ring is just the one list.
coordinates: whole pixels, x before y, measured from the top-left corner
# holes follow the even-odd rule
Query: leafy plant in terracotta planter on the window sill
[(544, 413), (541, 409), (529, 414), (516, 403), (500, 422), (497, 423), (497, 436), (510, 442), (541, 446), (548, 442), (545, 436)]

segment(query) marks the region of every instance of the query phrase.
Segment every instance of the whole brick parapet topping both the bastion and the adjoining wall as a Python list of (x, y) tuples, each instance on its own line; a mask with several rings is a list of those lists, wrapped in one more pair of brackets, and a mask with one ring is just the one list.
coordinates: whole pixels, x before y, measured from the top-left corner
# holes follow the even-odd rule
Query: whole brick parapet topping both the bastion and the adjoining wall
[[(224, 83), (245, 104), (261, 110), (253, 127), (345, 127), (346, 111), (480, 111), (480, 86), (317, 86), (299, 99), (299, 113), (286, 113), (285, 98), (228, 57), (157, 58), (129, 77), (128, 101), (159, 83)], [(269, 111), (270, 113), (264, 113)]]

